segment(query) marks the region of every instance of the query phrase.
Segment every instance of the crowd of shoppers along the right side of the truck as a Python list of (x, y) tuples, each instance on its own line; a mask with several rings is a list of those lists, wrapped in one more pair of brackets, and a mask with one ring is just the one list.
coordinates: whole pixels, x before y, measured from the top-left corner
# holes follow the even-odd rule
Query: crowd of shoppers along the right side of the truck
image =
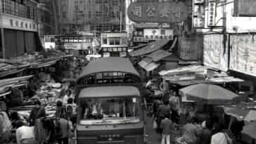
[[(172, 137), (172, 126), (174, 124), (182, 124), (179, 117), (179, 109), (181, 108), (181, 100), (177, 96), (177, 91), (169, 90), (168, 95), (161, 98), (153, 98), (152, 86), (155, 79), (149, 80), (145, 85), (146, 104), (153, 103), (153, 117), (156, 123), (155, 131), (162, 137), (162, 144), (175, 142), (179, 144), (240, 144), (241, 131), (243, 122), (233, 122), (229, 126), (225, 126), (215, 114), (205, 121), (198, 121), (196, 114), (192, 114), (188, 122), (181, 129), (181, 136), (177, 136), (174, 140)], [(149, 92), (148, 92), (149, 91)], [(150, 113), (150, 109), (148, 109)], [(148, 114), (149, 115), (149, 114)]]

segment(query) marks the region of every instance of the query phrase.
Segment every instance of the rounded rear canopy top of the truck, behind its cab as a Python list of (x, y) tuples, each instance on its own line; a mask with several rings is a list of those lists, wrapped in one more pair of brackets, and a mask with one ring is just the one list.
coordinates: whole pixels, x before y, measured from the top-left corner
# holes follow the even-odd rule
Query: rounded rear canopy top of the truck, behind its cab
[(141, 77), (132, 65), (129, 58), (108, 57), (92, 60), (77, 78), (77, 81), (84, 76), (99, 72), (126, 72)]

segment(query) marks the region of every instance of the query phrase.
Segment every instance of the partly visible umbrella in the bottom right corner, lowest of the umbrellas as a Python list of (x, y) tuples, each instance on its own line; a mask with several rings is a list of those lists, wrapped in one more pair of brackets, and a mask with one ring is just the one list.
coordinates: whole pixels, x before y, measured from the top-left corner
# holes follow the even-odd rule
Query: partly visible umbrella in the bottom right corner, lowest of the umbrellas
[(243, 131), (241, 131), (242, 140), (246, 143), (256, 143), (256, 122), (247, 124), (243, 126)]

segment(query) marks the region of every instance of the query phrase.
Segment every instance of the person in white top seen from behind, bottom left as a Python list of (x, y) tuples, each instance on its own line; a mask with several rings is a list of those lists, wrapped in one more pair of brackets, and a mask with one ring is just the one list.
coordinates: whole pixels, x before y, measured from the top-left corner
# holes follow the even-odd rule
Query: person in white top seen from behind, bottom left
[(24, 126), (23, 122), (18, 122), (16, 129), (17, 144), (34, 144), (34, 126)]

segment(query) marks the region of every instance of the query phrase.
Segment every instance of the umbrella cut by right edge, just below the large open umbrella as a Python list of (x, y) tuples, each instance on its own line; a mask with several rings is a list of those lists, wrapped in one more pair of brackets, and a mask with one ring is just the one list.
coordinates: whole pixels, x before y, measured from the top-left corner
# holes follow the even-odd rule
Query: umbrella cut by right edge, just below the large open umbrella
[(233, 105), (222, 105), (227, 115), (236, 117), (238, 121), (244, 121), (249, 124), (256, 121), (256, 102), (241, 102)]

